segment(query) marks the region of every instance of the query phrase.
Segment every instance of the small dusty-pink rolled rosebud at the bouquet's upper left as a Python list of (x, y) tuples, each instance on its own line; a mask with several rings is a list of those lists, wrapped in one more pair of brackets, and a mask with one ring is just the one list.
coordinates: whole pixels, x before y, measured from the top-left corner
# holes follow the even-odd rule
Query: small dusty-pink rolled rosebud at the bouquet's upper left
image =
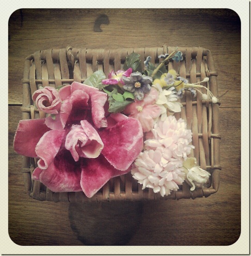
[(48, 114), (58, 114), (61, 107), (61, 99), (54, 87), (46, 86), (43, 89), (36, 90), (32, 99), (36, 102), (37, 109)]

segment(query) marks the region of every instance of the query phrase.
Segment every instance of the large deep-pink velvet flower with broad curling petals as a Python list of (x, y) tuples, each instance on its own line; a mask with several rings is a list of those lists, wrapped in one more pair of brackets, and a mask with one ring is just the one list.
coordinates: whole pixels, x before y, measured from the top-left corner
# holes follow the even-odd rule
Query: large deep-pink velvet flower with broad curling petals
[(32, 179), (53, 192), (83, 191), (90, 198), (109, 179), (130, 171), (143, 146), (141, 124), (120, 113), (106, 118), (107, 94), (94, 87), (73, 82), (54, 95), (51, 106), (45, 90), (33, 94), (58, 114), (20, 121), (14, 149), (38, 158)]

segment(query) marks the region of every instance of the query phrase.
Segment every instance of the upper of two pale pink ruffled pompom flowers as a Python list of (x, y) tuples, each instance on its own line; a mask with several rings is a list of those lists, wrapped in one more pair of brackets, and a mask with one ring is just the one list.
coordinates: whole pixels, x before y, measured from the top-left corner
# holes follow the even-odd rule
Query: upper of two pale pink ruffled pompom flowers
[(169, 152), (172, 158), (186, 159), (194, 148), (190, 144), (192, 132), (186, 129), (186, 123), (181, 118), (177, 121), (170, 115), (164, 121), (159, 119), (151, 132), (152, 134), (147, 134), (147, 137), (151, 138), (145, 141), (146, 149), (165, 147), (165, 151)]

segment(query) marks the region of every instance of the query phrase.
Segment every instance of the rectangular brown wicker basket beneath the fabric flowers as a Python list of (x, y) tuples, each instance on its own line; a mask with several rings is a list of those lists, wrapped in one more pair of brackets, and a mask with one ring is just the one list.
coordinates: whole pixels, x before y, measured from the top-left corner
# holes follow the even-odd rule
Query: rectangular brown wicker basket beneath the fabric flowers
[[(141, 55), (141, 64), (147, 56), (152, 57), (157, 64), (158, 56), (174, 51), (174, 47), (156, 48), (121, 48), (121, 49), (76, 49), (68, 46), (66, 49), (48, 49), (37, 51), (25, 59), (23, 83), (23, 106), (21, 108), (23, 119), (43, 118), (45, 114), (38, 112), (34, 107), (31, 95), (40, 86), (61, 86), (73, 81), (83, 83), (96, 70), (104, 70), (108, 76), (111, 70), (122, 69), (124, 60), (131, 52)], [(209, 50), (202, 47), (179, 47), (184, 60), (176, 63), (170, 62), (169, 69), (175, 69), (180, 76), (186, 77), (190, 83), (201, 81), (210, 77), (209, 86), (214, 96), (218, 95), (217, 73), (214, 61)], [(198, 96), (197, 96), (198, 97)], [(181, 100), (182, 111), (176, 113), (176, 118), (183, 118), (187, 128), (192, 130), (192, 154), (204, 170), (211, 173), (207, 187), (190, 191), (190, 186), (184, 182), (177, 192), (171, 192), (164, 199), (181, 199), (208, 197), (217, 192), (220, 183), (220, 154), (219, 154), (219, 104), (192, 99), (190, 92), (186, 92)], [(51, 192), (39, 181), (31, 179), (31, 173), (36, 167), (37, 159), (23, 157), (22, 171), (24, 173), (24, 186), (28, 194), (38, 200), (88, 202), (111, 200), (145, 200), (162, 199), (152, 189), (142, 190), (142, 186), (132, 178), (131, 173), (110, 179), (102, 189), (92, 198), (87, 198), (83, 192)]]

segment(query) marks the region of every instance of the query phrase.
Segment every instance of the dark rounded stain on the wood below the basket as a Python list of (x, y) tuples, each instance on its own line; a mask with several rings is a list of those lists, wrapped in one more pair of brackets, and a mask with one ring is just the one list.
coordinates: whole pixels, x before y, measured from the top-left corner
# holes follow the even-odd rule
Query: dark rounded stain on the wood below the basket
[(142, 202), (70, 203), (69, 220), (85, 245), (125, 245), (141, 223)]

